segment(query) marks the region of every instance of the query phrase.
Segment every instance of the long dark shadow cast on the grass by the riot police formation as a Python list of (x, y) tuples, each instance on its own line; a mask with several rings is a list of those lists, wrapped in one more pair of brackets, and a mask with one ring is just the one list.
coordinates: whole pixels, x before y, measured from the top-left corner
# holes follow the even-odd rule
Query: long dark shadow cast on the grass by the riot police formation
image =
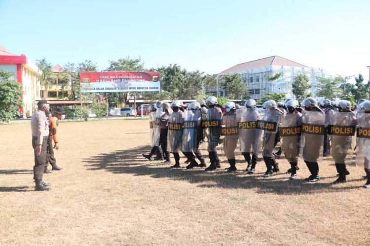
[[(151, 147), (139, 146), (134, 149), (114, 151), (111, 153), (99, 154), (84, 159), (87, 170), (106, 170), (113, 174), (133, 174), (136, 176), (150, 176), (152, 178), (170, 178), (195, 183), (198, 187), (221, 187), (226, 189), (257, 189), (258, 193), (275, 193), (282, 195), (305, 194), (305, 193), (328, 193), (341, 192), (343, 190), (357, 189), (360, 186), (341, 186), (325, 182), (323, 177), (320, 181), (309, 183), (304, 177), (296, 180), (288, 180), (283, 173), (264, 178), (263, 173), (248, 175), (245, 170), (234, 173), (225, 172), (225, 165), (222, 169), (205, 172), (204, 168), (193, 168), (186, 170), (185, 159), (181, 159), (181, 169), (170, 169), (170, 165), (161, 164), (160, 161), (149, 161), (142, 156), (148, 153)], [(182, 155), (182, 154), (181, 154)], [(204, 155), (207, 160), (207, 155)], [(171, 154), (172, 165), (174, 159)], [(259, 160), (258, 165), (263, 161)], [(264, 165), (264, 164), (263, 164)], [(298, 174), (299, 176), (299, 174)], [(350, 180), (352, 181), (352, 180)]]

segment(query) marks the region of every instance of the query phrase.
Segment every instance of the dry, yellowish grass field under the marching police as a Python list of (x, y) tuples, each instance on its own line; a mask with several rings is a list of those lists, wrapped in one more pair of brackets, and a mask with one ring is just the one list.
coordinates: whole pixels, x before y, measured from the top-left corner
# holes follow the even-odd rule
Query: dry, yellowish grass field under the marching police
[[(316, 183), (303, 181), (302, 160), (289, 181), (283, 158), (283, 172), (261, 177), (259, 158), (249, 176), (239, 151), (240, 171), (226, 173), (222, 146), (222, 170), (170, 170), (141, 156), (148, 120), (61, 122), (64, 170), (35, 192), (29, 122), (0, 125), (0, 136), (0, 245), (370, 245), (364, 171), (349, 166), (347, 183), (333, 185), (332, 158)], [(206, 144), (202, 153), (209, 164)]]

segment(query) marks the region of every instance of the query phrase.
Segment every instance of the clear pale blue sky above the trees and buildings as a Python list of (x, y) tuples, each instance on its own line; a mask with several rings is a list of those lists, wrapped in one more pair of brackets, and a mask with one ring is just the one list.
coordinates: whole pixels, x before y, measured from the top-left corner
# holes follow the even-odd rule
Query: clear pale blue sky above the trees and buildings
[(369, 79), (370, 1), (0, 0), (0, 45), (53, 65), (139, 56), (218, 73), (279, 55)]

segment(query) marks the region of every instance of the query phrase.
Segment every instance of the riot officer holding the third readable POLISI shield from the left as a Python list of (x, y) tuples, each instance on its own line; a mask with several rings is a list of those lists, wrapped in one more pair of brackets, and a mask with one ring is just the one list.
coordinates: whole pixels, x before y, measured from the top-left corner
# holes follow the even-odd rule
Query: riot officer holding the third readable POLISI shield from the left
[(221, 167), (216, 147), (219, 144), (221, 136), (222, 111), (221, 108), (218, 107), (217, 98), (214, 96), (207, 98), (206, 104), (209, 108), (207, 111), (202, 111), (202, 126), (209, 130), (208, 154), (211, 161), (211, 164), (206, 168), (206, 171), (212, 171)]

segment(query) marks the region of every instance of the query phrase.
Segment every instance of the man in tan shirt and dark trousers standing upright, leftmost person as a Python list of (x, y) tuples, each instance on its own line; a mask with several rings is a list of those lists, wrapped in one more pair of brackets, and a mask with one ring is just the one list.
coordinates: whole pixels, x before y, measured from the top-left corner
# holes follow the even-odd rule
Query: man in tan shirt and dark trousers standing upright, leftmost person
[(46, 100), (40, 100), (37, 106), (38, 110), (31, 118), (32, 147), (35, 155), (35, 190), (48, 191), (50, 184), (42, 181), (42, 175), (46, 164), (47, 138), (49, 136), (49, 124), (46, 120), (45, 111), (49, 110), (49, 104)]

